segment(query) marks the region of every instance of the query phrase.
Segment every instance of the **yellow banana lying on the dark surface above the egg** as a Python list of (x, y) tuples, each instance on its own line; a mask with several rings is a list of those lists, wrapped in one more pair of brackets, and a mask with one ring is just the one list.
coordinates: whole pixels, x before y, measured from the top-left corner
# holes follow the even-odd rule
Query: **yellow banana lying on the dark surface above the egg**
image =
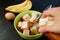
[(8, 6), (5, 10), (15, 12), (15, 13), (19, 13), (19, 12), (22, 12), (25, 10), (29, 10), (29, 9), (31, 9), (31, 7), (32, 7), (32, 2), (30, 0), (25, 0), (21, 4)]

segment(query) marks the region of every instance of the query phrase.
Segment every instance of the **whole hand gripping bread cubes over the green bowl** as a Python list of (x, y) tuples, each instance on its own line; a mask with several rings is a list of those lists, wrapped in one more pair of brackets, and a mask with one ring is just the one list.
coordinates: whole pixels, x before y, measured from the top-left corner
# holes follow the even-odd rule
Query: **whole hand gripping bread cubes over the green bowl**
[(43, 26), (39, 28), (39, 32), (60, 33), (60, 7), (51, 8), (43, 12), (42, 17), (53, 16), (55, 23), (51, 26)]

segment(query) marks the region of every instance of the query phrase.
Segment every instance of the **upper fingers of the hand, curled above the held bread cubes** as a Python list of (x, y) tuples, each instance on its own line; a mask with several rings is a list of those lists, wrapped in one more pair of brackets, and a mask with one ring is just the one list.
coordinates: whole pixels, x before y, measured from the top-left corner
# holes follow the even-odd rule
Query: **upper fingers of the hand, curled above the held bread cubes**
[(49, 15), (55, 17), (55, 16), (57, 16), (57, 13), (60, 13), (60, 7), (53, 7), (51, 9), (43, 11), (42, 17), (46, 17)]

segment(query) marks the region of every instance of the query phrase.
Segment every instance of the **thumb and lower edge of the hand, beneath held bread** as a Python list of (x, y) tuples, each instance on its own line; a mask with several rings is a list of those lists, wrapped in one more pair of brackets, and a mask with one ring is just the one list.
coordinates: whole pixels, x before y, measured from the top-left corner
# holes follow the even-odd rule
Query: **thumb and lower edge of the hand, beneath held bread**
[(42, 26), (39, 28), (38, 30), (41, 33), (45, 33), (45, 32), (54, 32), (54, 33), (60, 33), (60, 23), (58, 24), (57, 22), (54, 22), (53, 25), (50, 26)]

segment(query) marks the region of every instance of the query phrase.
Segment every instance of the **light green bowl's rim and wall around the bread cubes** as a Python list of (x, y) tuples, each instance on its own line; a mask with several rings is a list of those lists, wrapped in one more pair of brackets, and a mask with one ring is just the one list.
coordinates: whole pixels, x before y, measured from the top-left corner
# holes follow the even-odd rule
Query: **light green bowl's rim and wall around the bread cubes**
[(24, 12), (18, 14), (18, 15), (16, 16), (15, 20), (14, 20), (14, 28), (16, 29), (16, 31), (18, 32), (18, 34), (19, 34), (21, 37), (25, 38), (25, 39), (36, 39), (36, 38), (39, 38), (39, 37), (42, 36), (42, 33), (36, 34), (36, 35), (24, 35), (24, 34), (22, 34), (20, 31), (18, 31), (18, 29), (17, 29), (18, 22), (21, 20), (21, 18), (22, 18), (25, 14), (29, 14), (29, 15), (31, 16), (32, 12), (36, 12), (36, 13), (38, 14), (38, 16), (41, 15), (41, 13), (38, 12), (38, 11), (29, 10), (29, 11), (24, 11)]

